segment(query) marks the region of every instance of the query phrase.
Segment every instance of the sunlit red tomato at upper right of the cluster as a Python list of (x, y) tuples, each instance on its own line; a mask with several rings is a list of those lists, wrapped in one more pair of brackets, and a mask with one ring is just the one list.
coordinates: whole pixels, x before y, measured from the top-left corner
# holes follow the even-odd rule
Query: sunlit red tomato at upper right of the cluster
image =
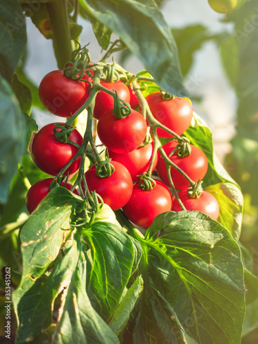
[[(149, 108), (156, 120), (162, 125), (181, 135), (191, 125), (193, 118), (193, 107), (184, 98), (171, 98), (163, 100), (160, 92), (153, 92), (146, 97)], [(172, 138), (170, 133), (164, 129), (157, 129), (160, 138)]]

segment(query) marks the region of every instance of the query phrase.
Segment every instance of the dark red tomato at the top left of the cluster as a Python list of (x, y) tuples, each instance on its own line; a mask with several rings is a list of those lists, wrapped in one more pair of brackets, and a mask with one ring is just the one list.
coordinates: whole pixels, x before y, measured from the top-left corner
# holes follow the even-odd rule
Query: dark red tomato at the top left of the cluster
[(70, 117), (83, 106), (87, 92), (79, 81), (67, 78), (63, 70), (54, 70), (41, 80), (39, 98), (52, 114)]

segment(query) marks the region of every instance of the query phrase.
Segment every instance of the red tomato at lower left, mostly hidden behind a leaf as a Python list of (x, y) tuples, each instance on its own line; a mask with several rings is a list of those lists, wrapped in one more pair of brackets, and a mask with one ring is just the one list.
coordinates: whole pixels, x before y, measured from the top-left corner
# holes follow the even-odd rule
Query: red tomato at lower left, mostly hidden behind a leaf
[[(36, 207), (43, 200), (43, 198), (45, 198), (47, 193), (50, 192), (50, 184), (52, 180), (52, 178), (39, 180), (39, 182), (36, 182), (30, 187), (26, 195), (26, 206), (30, 214), (32, 213), (32, 211), (36, 209)], [(64, 184), (65, 183), (62, 183), (62, 186)], [(72, 184), (66, 183), (65, 189), (71, 190)], [(78, 195), (78, 191), (76, 189), (73, 192), (76, 193), (76, 195)]]

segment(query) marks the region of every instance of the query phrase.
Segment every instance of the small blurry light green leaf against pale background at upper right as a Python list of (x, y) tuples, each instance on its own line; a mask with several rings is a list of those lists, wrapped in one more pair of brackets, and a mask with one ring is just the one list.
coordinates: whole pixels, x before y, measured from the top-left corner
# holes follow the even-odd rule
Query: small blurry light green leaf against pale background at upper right
[(224, 69), (233, 87), (237, 86), (239, 78), (239, 43), (235, 36), (226, 36), (222, 41), (219, 41), (220, 54), (222, 56), (222, 63)]

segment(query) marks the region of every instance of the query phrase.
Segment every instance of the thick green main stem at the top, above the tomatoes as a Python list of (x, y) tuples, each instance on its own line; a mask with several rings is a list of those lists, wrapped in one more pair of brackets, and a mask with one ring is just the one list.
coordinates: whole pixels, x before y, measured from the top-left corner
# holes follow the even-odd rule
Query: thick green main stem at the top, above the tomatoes
[(53, 46), (59, 69), (71, 59), (72, 41), (70, 40), (67, 0), (52, 0), (46, 3), (53, 30)]

